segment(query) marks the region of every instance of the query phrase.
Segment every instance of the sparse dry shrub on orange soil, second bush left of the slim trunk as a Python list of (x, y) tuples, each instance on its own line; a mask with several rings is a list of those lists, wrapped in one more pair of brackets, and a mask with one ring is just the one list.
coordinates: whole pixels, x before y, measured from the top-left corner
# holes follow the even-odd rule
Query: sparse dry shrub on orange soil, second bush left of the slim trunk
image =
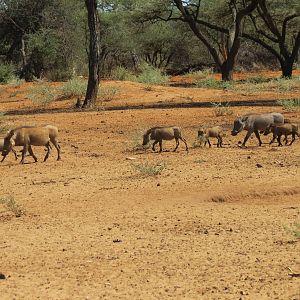
[(47, 106), (54, 101), (56, 97), (56, 91), (51, 88), (49, 84), (45, 83), (34, 85), (27, 94), (27, 98), (37, 106)]

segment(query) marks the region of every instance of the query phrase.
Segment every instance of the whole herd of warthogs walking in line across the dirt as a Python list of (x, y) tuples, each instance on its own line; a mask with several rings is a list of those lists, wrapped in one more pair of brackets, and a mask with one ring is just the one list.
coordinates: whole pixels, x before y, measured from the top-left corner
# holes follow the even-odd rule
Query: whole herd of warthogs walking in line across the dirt
[[(231, 134), (237, 135), (242, 130), (246, 130), (247, 134), (242, 143), (242, 147), (246, 146), (251, 134), (254, 132), (255, 136), (259, 141), (259, 146), (262, 145), (260, 139), (260, 133), (268, 135), (273, 133), (273, 138), (270, 141), (272, 144), (275, 139), (278, 141), (278, 146), (282, 146), (281, 137), (284, 135), (285, 144), (288, 143), (287, 136), (292, 135), (290, 145), (295, 141), (296, 136), (299, 137), (298, 125), (290, 123), (284, 119), (281, 113), (266, 113), (266, 114), (246, 114), (241, 117), (237, 117), (233, 124)], [(223, 145), (223, 129), (221, 126), (214, 126), (211, 128), (201, 128), (198, 130), (198, 138), (204, 141), (204, 146), (208, 143), (211, 147), (209, 138), (217, 139), (217, 147)], [(162, 141), (173, 140), (176, 141), (176, 147), (173, 151), (176, 151), (179, 146), (179, 140), (185, 144), (186, 151), (188, 151), (188, 145), (186, 140), (182, 137), (181, 129), (178, 126), (165, 126), (165, 127), (153, 127), (146, 131), (143, 136), (143, 145), (147, 145), (150, 140), (154, 140), (152, 150), (155, 151), (155, 145), (159, 144), (159, 152), (162, 152)], [(58, 144), (58, 128), (53, 125), (46, 126), (20, 126), (11, 129), (4, 139), (0, 140), (0, 151), (2, 151), (2, 161), (12, 151), (17, 160), (17, 153), (14, 150), (15, 146), (23, 146), (21, 163), (24, 163), (27, 151), (29, 155), (33, 157), (35, 162), (37, 157), (32, 151), (32, 146), (44, 146), (46, 147), (47, 153), (44, 158), (46, 161), (49, 157), (52, 149), (50, 142), (54, 145), (57, 150), (57, 160), (60, 160), (60, 146)]]

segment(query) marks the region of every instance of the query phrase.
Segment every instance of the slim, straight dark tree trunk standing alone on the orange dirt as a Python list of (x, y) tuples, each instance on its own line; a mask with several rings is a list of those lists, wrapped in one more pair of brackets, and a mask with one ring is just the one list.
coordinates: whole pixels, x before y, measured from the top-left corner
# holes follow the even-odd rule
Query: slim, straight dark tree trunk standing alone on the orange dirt
[(89, 40), (89, 79), (83, 107), (93, 107), (96, 103), (100, 81), (100, 53), (98, 45), (97, 1), (85, 0), (88, 12)]

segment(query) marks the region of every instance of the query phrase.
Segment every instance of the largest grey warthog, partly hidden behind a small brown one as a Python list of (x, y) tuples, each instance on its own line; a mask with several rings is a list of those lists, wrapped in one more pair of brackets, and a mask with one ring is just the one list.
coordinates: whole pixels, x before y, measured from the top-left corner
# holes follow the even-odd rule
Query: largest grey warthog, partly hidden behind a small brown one
[(259, 131), (264, 132), (271, 125), (281, 125), (284, 123), (284, 117), (280, 113), (267, 113), (267, 114), (247, 114), (235, 119), (231, 134), (237, 135), (242, 130), (247, 130), (244, 142), (242, 144), (245, 147), (251, 134), (254, 132), (259, 141), (259, 146), (262, 145), (262, 141), (259, 136)]

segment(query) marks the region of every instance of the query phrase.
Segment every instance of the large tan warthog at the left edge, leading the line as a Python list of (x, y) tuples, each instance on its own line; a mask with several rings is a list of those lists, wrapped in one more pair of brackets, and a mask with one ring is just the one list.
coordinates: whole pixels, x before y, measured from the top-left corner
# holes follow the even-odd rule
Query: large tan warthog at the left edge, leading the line
[(37, 157), (34, 155), (31, 146), (45, 146), (47, 148), (47, 153), (44, 161), (46, 161), (50, 154), (51, 141), (57, 150), (57, 160), (60, 160), (60, 146), (58, 144), (57, 137), (58, 129), (52, 125), (44, 127), (23, 126), (14, 128), (4, 137), (2, 156), (5, 158), (14, 146), (23, 146), (21, 163), (24, 163), (27, 151), (33, 157), (35, 162), (37, 162)]

